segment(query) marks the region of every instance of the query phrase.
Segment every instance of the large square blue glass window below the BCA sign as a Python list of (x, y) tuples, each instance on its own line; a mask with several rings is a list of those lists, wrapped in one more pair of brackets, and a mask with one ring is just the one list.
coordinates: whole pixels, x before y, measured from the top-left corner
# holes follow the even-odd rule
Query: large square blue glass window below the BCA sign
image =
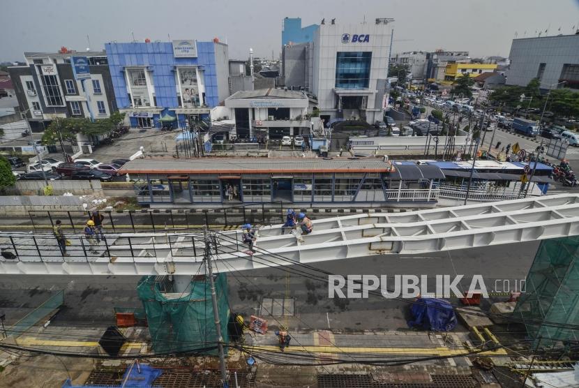
[(336, 54), (336, 87), (367, 89), (370, 85), (372, 52), (338, 52)]

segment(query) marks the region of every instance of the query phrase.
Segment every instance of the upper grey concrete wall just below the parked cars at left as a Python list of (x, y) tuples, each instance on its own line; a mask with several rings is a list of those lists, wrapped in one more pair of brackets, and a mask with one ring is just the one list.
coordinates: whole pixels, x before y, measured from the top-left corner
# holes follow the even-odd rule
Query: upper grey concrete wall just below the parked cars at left
[[(50, 181), (54, 195), (73, 193), (74, 195), (103, 195), (100, 181)], [(8, 188), (11, 195), (37, 195), (44, 187), (44, 181), (17, 181)]]

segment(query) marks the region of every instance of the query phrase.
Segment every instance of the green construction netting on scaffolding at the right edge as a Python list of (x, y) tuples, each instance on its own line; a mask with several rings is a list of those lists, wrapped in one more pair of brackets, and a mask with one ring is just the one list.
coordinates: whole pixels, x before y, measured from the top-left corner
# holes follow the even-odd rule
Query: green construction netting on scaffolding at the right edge
[[(516, 318), (560, 324), (579, 324), (579, 237), (541, 242), (529, 270), (526, 290), (515, 308)], [(579, 331), (545, 324), (525, 324), (535, 345), (565, 345), (577, 341)]]

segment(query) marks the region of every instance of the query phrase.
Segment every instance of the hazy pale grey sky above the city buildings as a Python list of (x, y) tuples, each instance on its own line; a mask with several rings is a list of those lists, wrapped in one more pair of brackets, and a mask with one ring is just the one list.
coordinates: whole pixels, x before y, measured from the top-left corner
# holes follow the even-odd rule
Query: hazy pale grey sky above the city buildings
[[(3, 0), (0, 61), (24, 51), (103, 50), (111, 40), (220, 38), (231, 58), (280, 52), (283, 17), (302, 25), (336, 17), (357, 24), (393, 17), (393, 54), (407, 50), (468, 50), (471, 57), (507, 56), (511, 40), (548, 29), (579, 28), (579, 0)], [(574, 32), (574, 31), (573, 31)]]

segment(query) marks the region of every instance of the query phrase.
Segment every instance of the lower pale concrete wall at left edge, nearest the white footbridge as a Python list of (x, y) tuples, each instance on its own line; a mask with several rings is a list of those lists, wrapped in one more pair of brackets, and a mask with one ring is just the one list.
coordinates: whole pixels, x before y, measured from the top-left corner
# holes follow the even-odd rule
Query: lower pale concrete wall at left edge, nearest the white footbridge
[(78, 197), (44, 197), (40, 195), (0, 197), (0, 216), (28, 216), (29, 211), (83, 210)]

